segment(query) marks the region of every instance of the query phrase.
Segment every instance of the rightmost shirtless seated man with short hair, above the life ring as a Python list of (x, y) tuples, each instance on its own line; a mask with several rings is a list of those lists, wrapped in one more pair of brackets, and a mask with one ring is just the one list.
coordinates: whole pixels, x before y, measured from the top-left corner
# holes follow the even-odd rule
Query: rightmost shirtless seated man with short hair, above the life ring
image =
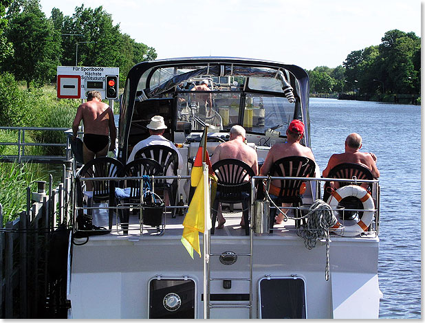
[(358, 133), (350, 133), (345, 140), (345, 153), (331, 155), (323, 170), (323, 177), (329, 175), (329, 171), (335, 166), (343, 163), (354, 163), (365, 166), (371, 170), (375, 179), (380, 177), (376, 167), (376, 156), (374, 153), (360, 153), (362, 148), (362, 137)]

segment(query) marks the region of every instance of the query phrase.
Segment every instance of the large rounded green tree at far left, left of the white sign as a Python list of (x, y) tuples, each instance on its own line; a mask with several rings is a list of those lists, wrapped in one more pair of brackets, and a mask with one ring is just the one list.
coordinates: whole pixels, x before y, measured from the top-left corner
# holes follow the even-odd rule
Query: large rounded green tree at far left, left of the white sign
[(6, 31), (14, 48), (14, 56), (6, 60), (3, 69), (11, 71), (27, 87), (44, 85), (56, 76), (61, 55), (60, 35), (52, 21), (46, 19), (38, 0), (25, 1), (22, 12), (14, 11)]

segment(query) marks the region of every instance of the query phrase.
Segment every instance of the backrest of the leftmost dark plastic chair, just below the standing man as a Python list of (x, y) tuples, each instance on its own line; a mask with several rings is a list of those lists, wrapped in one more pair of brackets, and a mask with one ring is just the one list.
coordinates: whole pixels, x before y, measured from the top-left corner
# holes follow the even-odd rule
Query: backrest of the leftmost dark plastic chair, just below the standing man
[[(91, 159), (80, 170), (78, 170), (76, 177), (117, 177), (122, 174), (124, 165), (115, 158), (111, 157), (98, 157)], [(107, 201), (111, 193), (115, 194), (115, 183), (110, 180), (96, 180), (93, 183), (93, 201)]]

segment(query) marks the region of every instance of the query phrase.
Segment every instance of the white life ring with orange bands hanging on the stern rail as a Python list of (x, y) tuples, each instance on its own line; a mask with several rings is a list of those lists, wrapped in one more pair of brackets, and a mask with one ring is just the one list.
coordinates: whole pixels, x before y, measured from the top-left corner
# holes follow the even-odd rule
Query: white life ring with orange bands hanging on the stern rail
[(342, 236), (358, 236), (364, 231), (367, 231), (369, 225), (371, 225), (373, 220), (373, 214), (375, 213), (375, 203), (373, 203), (373, 199), (369, 192), (357, 185), (348, 185), (343, 186), (342, 188), (338, 188), (335, 192), (331, 193), (331, 197), (329, 197), (327, 203), (333, 209), (332, 212), (334, 216), (336, 216), (336, 207), (338, 203), (344, 199), (345, 197), (357, 197), (363, 203), (363, 216), (357, 223), (353, 225), (345, 225), (342, 226), (338, 221), (336, 225), (331, 227), (331, 230), (336, 230), (340, 232)]

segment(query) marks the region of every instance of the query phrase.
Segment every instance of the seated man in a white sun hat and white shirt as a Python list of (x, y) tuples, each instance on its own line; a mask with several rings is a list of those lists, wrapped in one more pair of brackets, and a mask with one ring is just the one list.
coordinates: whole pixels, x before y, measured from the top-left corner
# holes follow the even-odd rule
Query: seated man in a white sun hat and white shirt
[[(133, 147), (133, 150), (131, 151), (131, 154), (129, 156), (129, 159), (127, 159), (127, 164), (129, 164), (130, 161), (134, 160), (135, 153), (140, 151), (140, 149), (151, 146), (151, 145), (163, 145), (173, 148), (175, 151), (177, 151), (177, 155), (179, 156), (179, 168), (177, 170), (177, 173), (180, 174), (183, 169), (183, 157), (182, 154), (179, 152), (177, 147), (171, 142), (170, 140), (167, 140), (163, 134), (164, 130), (167, 128), (164, 122), (164, 117), (161, 115), (154, 115), (151, 118), (151, 122), (146, 126), (149, 129), (150, 136), (147, 137), (145, 140), (142, 140), (135, 144)], [(168, 168), (166, 172), (166, 176), (173, 176), (173, 169)], [(167, 179), (168, 183), (172, 183), (173, 179)], [(166, 205), (169, 205), (169, 199), (168, 194), (165, 194), (165, 203)]]

